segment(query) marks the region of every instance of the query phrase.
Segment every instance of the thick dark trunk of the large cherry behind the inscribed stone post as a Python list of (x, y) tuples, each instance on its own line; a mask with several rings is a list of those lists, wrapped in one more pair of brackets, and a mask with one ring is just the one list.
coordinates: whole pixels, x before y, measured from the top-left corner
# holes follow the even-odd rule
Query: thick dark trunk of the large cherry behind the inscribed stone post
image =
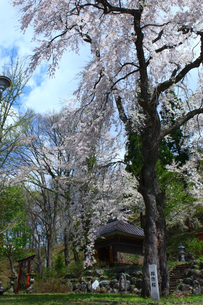
[(155, 135), (148, 131), (147, 136), (146, 134), (142, 135), (144, 165), (141, 169), (140, 186), (138, 188), (145, 203), (142, 294), (148, 297), (151, 296), (148, 267), (151, 264), (157, 265), (160, 295), (167, 296), (169, 294), (169, 273), (166, 257), (167, 231), (163, 215), (164, 194), (160, 192), (156, 168), (162, 139), (158, 137), (157, 132), (154, 133)]

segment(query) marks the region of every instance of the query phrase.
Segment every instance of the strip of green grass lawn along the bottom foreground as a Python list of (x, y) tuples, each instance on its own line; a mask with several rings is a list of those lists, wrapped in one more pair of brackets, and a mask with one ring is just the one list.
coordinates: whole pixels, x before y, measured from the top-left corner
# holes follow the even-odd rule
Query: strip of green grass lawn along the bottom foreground
[[(165, 299), (160, 299), (161, 304), (173, 304), (172, 302), (177, 302), (177, 304), (182, 304), (180, 302), (188, 302), (188, 304), (203, 303), (203, 295), (201, 296), (183, 296), (174, 297), (169, 296)], [(191, 303), (190, 303), (191, 302)], [(116, 304), (126, 304), (135, 303), (141, 304), (152, 304), (150, 298), (143, 299), (140, 296), (135, 295), (113, 295), (113, 294), (19, 294), (10, 296), (9, 294), (0, 296), (1, 305), (69, 305), (69, 304), (79, 304), (79, 305), (116, 305)], [(156, 304), (157, 302), (153, 302)]]

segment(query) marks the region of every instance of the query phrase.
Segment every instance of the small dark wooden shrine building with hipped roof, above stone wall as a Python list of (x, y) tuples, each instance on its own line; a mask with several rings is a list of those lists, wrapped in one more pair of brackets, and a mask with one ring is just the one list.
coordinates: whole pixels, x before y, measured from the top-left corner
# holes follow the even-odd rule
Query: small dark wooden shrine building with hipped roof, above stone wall
[(144, 231), (129, 221), (111, 216), (96, 232), (95, 258), (107, 263), (123, 263), (125, 254), (143, 254)]

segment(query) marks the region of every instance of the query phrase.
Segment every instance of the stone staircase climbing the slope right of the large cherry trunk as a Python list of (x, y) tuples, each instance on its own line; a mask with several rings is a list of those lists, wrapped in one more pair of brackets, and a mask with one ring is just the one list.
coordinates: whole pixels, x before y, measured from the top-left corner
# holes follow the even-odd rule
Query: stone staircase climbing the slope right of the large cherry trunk
[(183, 263), (176, 265), (173, 269), (169, 272), (169, 293), (172, 293), (176, 286), (178, 285), (178, 280), (183, 278), (183, 270), (190, 268), (191, 263)]

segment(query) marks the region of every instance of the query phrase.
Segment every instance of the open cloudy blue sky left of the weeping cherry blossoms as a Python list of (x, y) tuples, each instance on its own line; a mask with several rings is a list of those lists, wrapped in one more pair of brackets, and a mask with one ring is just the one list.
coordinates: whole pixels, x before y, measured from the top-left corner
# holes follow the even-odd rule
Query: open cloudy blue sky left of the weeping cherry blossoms
[[(0, 64), (2, 66), (4, 60), (9, 60), (9, 53), (13, 52), (13, 48), (22, 58), (32, 53), (34, 43), (31, 42), (33, 29), (28, 27), (25, 34), (18, 29), (19, 18), (16, 17), (16, 11), (9, 2), (0, 0), (0, 7), (0, 28), (2, 29)], [(61, 100), (68, 99), (77, 88), (77, 80), (73, 78), (85, 65), (89, 54), (89, 46), (82, 47), (79, 55), (72, 51), (67, 52), (53, 79), (49, 79), (47, 75), (46, 63), (39, 66), (27, 84), (26, 93), (21, 96), (24, 107), (30, 107), (41, 113), (46, 109), (60, 109)]]

